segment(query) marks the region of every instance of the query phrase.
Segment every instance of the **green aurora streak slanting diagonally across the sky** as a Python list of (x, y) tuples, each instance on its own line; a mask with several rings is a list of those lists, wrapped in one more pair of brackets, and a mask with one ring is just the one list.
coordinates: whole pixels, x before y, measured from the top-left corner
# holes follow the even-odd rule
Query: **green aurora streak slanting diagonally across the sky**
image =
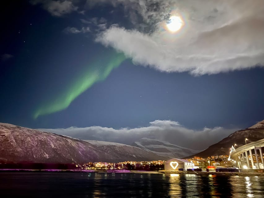
[[(33, 113), (33, 118), (37, 119), (41, 115), (52, 114), (66, 109), (71, 102), (81, 93), (93, 86), (96, 82), (103, 81), (110, 72), (119, 67), (126, 59), (124, 54), (108, 54), (101, 59), (89, 64), (86, 70), (68, 84), (67, 88), (58, 92), (58, 95), (51, 96), (48, 101), (44, 101)], [(109, 58), (106, 58), (109, 57)]]

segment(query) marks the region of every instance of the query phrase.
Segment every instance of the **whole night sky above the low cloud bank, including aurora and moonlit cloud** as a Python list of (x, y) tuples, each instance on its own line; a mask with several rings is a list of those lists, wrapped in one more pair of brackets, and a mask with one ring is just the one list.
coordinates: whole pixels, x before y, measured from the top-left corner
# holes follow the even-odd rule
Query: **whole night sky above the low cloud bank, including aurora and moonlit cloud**
[(263, 120), (263, 1), (206, 2), (1, 1), (0, 122), (117, 131), (170, 122), (218, 127), (214, 143)]

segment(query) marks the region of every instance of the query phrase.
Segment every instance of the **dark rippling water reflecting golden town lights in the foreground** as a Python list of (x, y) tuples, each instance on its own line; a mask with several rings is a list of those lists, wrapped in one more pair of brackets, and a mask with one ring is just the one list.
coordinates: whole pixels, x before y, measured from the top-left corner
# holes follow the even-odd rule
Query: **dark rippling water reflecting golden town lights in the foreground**
[(264, 197), (263, 176), (0, 172), (0, 197)]

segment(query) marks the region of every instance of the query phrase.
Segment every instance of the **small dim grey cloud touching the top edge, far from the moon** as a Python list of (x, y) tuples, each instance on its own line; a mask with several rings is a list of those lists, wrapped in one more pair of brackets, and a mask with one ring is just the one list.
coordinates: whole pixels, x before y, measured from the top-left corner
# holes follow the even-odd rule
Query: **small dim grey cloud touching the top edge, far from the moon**
[(50, 12), (53, 16), (62, 16), (77, 11), (78, 7), (74, 6), (71, 1), (53, 1), (53, 0), (32, 0), (33, 5), (42, 4), (42, 7)]

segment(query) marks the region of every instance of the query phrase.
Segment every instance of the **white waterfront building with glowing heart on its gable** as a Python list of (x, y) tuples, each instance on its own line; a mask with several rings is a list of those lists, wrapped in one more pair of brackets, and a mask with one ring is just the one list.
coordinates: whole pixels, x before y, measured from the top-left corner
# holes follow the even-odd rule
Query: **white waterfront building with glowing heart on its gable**
[(172, 158), (165, 162), (165, 170), (187, 170), (194, 167), (194, 164), (188, 160), (182, 160), (177, 158)]

